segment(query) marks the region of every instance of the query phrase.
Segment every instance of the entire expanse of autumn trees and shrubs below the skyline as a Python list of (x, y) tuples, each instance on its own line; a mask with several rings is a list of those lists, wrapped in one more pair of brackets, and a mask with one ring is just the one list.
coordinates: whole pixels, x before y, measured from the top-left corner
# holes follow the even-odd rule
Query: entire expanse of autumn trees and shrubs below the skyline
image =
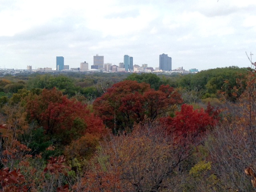
[(0, 79), (0, 191), (255, 191), (255, 71)]

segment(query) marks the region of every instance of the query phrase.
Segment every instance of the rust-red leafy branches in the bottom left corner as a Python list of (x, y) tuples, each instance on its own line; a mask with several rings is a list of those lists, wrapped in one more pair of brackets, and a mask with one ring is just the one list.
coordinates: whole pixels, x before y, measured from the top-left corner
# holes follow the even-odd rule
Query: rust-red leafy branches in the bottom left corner
[[(61, 180), (54, 184), (60, 174), (67, 176), (67, 171), (70, 170), (70, 167), (64, 164), (64, 156), (51, 157), (44, 171), (40, 172), (43, 165), (33, 167), (32, 164), (36, 161), (39, 163), (42, 156), (36, 155), (33, 158), (29, 154), (31, 149), (17, 140), (16, 132), (17, 130), (13, 127), (0, 124), (0, 165), (3, 167), (0, 169), (0, 191), (36, 192), (47, 190), (47, 188), (49, 190), (59, 188), (58, 191), (62, 192), (68, 191), (67, 187), (61, 186)], [(47, 172), (52, 176), (50, 182), (47, 179), (49, 178)]]

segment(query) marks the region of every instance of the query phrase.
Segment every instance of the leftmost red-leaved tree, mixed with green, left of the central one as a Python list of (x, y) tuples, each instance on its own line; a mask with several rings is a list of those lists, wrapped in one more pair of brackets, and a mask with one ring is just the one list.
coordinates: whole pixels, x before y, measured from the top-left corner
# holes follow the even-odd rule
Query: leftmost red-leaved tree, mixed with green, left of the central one
[(40, 95), (31, 95), (27, 103), (30, 122), (43, 126), (45, 134), (68, 144), (86, 132), (101, 135), (105, 132), (100, 118), (94, 116), (85, 104), (69, 100), (56, 88), (44, 89)]

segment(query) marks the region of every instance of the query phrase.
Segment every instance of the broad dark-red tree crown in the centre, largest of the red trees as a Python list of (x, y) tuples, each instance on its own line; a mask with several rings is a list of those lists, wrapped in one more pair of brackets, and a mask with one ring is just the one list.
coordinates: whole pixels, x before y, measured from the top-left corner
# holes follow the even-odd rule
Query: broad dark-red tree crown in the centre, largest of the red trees
[(127, 80), (114, 84), (97, 98), (93, 109), (115, 131), (132, 129), (134, 122), (139, 123), (145, 117), (153, 121), (167, 115), (181, 102), (180, 95), (169, 85), (161, 85), (156, 91), (149, 84)]

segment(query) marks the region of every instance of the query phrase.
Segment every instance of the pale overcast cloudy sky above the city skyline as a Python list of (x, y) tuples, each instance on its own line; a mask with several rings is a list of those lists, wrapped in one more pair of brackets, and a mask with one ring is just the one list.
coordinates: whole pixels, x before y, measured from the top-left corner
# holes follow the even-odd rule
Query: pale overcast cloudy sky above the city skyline
[(0, 0), (0, 68), (93, 64), (172, 69), (249, 67), (256, 60), (256, 0)]

